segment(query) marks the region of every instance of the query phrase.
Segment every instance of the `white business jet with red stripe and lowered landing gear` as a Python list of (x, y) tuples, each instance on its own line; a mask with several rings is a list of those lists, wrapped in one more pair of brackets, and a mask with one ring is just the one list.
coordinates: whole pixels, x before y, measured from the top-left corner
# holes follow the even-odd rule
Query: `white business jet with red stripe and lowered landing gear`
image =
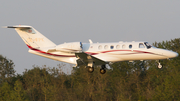
[[(160, 60), (178, 56), (176, 52), (155, 48), (148, 42), (93, 43), (89, 40), (89, 43), (71, 42), (56, 45), (31, 26), (16, 25), (6, 28), (14, 28), (32, 54), (76, 66), (84, 65), (89, 72), (93, 72), (95, 66), (101, 66), (101, 74), (106, 72), (106, 64), (113, 62)], [(158, 67), (161, 68), (162, 65), (159, 63)]]

